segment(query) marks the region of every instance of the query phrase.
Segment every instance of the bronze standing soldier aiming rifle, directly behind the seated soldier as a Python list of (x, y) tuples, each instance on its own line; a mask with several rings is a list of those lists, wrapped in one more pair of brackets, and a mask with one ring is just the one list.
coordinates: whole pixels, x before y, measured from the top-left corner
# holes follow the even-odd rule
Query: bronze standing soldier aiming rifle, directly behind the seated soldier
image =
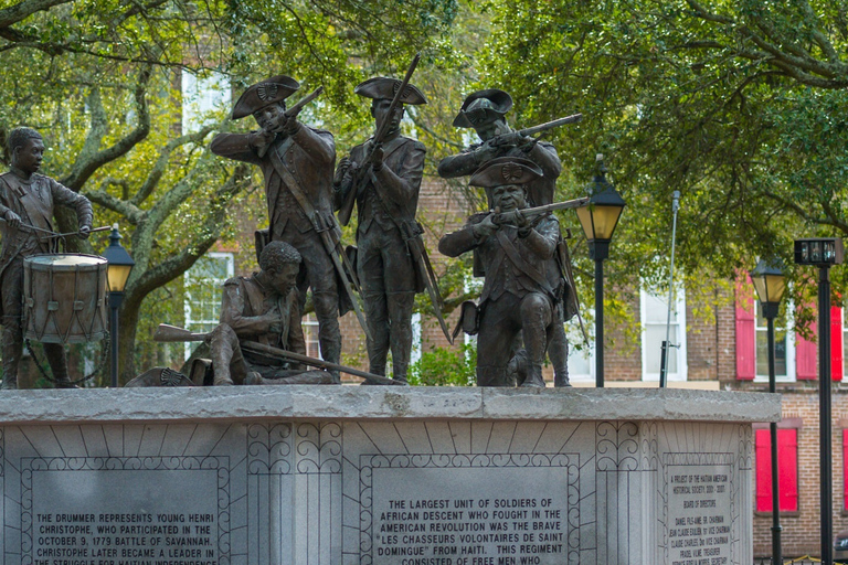
[[(336, 143), (332, 134), (310, 128), (286, 114), (285, 99), (300, 85), (288, 76), (274, 76), (247, 88), (233, 108), (233, 119), (253, 115), (259, 130), (219, 134), (210, 149), (215, 154), (257, 164), (265, 177), (271, 241), (294, 246), (303, 257), (297, 280), (299, 311), (306, 290), (312, 289), (321, 356), (338, 363), (341, 356), (339, 316), (349, 302), (342, 295), (338, 268), (324, 235), (336, 231), (332, 216), (332, 172)], [(340, 235), (340, 232), (337, 236)], [(337, 375), (338, 376), (338, 375)]]

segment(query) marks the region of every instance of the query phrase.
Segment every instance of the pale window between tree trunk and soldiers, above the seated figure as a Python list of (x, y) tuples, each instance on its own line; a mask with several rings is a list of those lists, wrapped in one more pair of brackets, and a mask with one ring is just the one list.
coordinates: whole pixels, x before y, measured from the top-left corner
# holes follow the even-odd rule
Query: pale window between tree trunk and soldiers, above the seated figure
[[(211, 331), (221, 316), (221, 287), (233, 276), (232, 253), (208, 253), (186, 271), (186, 328), (198, 333)], [(186, 344), (186, 359), (191, 352)]]

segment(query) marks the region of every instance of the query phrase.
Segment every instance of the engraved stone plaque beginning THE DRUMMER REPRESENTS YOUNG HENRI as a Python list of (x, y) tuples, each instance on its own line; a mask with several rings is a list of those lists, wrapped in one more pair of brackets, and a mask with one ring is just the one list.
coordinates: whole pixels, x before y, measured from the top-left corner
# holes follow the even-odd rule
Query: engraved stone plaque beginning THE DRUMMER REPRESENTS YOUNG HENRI
[(23, 550), (35, 565), (219, 563), (226, 459), (23, 458)]

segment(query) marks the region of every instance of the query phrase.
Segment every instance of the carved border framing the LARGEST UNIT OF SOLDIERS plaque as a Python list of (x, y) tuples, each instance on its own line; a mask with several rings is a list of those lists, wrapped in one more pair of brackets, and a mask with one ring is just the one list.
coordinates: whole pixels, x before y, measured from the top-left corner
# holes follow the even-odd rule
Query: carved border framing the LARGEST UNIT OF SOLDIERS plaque
[(568, 559), (580, 562), (580, 455), (579, 454), (363, 454), (360, 460), (360, 565), (373, 565), (372, 469), (462, 469), (562, 467), (568, 476)]

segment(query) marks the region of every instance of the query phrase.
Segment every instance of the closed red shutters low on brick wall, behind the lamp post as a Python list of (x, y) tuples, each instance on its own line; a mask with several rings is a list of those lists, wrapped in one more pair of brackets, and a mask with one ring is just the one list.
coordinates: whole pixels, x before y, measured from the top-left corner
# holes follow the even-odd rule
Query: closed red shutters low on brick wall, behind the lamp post
[[(756, 511), (772, 511), (772, 434), (755, 430)], [(777, 428), (777, 484), (781, 512), (798, 511), (798, 429)]]

